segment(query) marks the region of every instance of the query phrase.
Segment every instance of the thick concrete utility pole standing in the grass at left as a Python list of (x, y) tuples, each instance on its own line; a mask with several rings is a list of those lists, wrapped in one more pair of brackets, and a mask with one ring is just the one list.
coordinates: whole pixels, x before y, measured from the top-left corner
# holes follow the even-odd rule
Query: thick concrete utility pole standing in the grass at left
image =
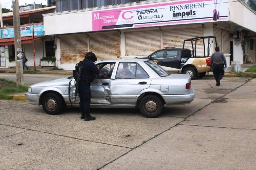
[(20, 38), (19, 21), (19, 0), (13, 0), (13, 28), (14, 28), (14, 48), (16, 50), (16, 81), (18, 84), (24, 84), (23, 65), (22, 65), (22, 47)]

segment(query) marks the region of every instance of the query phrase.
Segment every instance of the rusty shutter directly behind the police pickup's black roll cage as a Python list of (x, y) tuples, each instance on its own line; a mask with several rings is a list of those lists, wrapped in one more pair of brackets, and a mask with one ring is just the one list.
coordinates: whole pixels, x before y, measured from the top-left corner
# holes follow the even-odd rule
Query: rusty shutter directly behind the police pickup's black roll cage
[[(176, 46), (176, 48), (182, 48), (183, 42), (186, 39), (193, 38), (196, 36), (204, 36), (204, 28), (191, 27), (191, 28), (172, 28), (163, 30), (163, 46)], [(192, 50), (192, 45), (190, 42), (185, 43), (185, 48)], [(195, 48), (195, 43), (194, 43)], [(192, 53), (192, 51), (191, 51)], [(207, 53), (207, 51), (206, 51)], [(202, 40), (197, 41), (196, 45), (196, 56), (204, 56), (204, 44)]]

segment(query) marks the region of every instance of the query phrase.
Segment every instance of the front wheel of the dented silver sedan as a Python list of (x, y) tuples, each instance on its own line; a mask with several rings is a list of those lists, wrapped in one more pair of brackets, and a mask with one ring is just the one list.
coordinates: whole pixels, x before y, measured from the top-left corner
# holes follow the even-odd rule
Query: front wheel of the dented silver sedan
[(59, 114), (64, 107), (64, 101), (56, 93), (47, 93), (42, 100), (42, 106), (48, 114)]

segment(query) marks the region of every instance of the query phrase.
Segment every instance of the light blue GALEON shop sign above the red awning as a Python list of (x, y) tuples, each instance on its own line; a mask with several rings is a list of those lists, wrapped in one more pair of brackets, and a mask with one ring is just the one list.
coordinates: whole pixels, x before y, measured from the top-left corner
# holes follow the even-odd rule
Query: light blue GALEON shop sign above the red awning
[[(34, 25), (34, 35), (45, 35), (44, 32), (44, 24), (41, 25)], [(32, 36), (32, 25), (20, 27), (20, 36), (27, 37)], [(14, 29), (13, 28), (6, 28), (1, 29), (1, 38), (14, 38)]]

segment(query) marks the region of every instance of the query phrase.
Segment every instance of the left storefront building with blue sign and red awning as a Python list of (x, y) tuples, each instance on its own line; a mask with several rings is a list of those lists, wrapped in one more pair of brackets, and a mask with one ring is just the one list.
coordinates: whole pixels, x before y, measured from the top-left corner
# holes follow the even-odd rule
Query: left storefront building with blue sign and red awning
[[(27, 58), (27, 66), (34, 66), (33, 55), (33, 36), (32, 22), (34, 23), (34, 45), (35, 45), (35, 65), (40, 66), (40, 58), (55, 56), (54, 38), (52, 36), (44, 36), (44, 23), (42, 14), (55, 11), (55, 7), (46, 7), (40, 9), (28, 10), (20, 12), (20, 35), (22, 50)], [(3, 14), (4, 27), (0, 28), (0, 68), (15, 67), (14, 48), (14, 29), (12, 12)]]

